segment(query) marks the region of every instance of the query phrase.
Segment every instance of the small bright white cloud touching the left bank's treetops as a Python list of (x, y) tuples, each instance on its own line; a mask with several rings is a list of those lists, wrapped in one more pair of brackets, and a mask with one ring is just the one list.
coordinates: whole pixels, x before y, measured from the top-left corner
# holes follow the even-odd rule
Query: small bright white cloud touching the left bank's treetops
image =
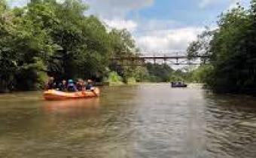
[(121, 19), (114, 19), (114, 20), (103, 20), (107, 26), (116, 29), (127, 29), (130, 32), (134, 32), (138, 26), (138, 24), (133, 20), (121, 20)]

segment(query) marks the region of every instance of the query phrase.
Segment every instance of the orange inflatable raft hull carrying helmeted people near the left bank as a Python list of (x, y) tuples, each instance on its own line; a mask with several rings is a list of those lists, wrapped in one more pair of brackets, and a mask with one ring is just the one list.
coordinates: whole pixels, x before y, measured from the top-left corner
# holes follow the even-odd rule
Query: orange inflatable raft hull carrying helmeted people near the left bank
[(47, 90), (44, 92), (45, 100), (67, 100), (67, 99), (86, 99), (99, 96), (99, 88), (90, 91), (75, 93), (61, 92), (59, 90)]

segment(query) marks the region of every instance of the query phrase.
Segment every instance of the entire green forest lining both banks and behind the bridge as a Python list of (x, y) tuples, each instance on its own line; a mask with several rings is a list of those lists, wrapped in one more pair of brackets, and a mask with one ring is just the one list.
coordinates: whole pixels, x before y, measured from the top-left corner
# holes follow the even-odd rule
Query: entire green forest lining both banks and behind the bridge
[(20, 8), (0, 2), (0, 92), (40, 90), (47, 77), (91, 78), (113, 83), (189, 81), (218, 92), (256, 91), (256, 0), (219, 17), (187, 48), (206, 55), (207, 65), (174, 70), (148, 63), (122, 66), (111, 57), (136, 56), (139, 49), (125, 29), (109, 29), (79, 0), (32, 0)]

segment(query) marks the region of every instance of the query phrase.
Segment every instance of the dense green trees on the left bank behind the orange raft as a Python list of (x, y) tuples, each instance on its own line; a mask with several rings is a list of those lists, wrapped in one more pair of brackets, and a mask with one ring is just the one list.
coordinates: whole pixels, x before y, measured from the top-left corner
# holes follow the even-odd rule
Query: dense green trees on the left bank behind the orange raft
[[(23, 8), (1, 1), (0, 91), (38, 90), (48, 76), (102, 81), (117, 69), (111, 56), (138, 53), (130, 32), (109, 30), (97, 17), (85, 16), (87, 9), (78, 0), (32, 0)], [(136, 69), (121, 67), (118, 74), (128, 81), (142, 73)]]

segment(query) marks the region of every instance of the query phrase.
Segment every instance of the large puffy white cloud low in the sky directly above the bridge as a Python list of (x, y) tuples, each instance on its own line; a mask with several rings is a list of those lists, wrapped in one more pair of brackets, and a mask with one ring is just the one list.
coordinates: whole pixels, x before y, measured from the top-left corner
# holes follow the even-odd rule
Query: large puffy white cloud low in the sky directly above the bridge
[(186, 27), (181, 29), (167, 29), (151, 32), (136, 38), (142, 51), (159, 52), (161, 50), (186, 50), (191, 41), (203, 32), (203, 28)]

